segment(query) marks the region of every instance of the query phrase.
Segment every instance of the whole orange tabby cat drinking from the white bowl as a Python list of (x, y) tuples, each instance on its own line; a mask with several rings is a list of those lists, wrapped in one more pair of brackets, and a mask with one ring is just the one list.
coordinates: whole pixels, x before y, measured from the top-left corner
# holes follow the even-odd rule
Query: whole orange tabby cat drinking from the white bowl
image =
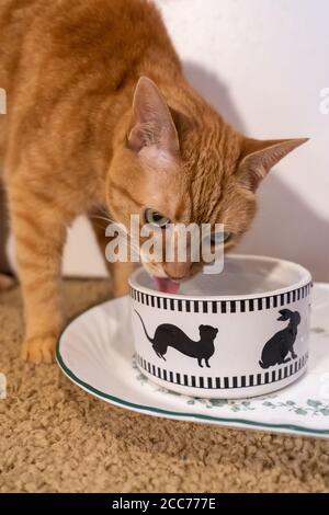
[[(150, 208), (172, 222), (224, 222), (230, 249), (254, 216), (260, 180), (305, 140), (257, 141), (225, 124), (186, 83), (146, 0), (1, 0), (0, 34), (0, 157), (25, 308), (22, 356), (49, 363), (63, 324), (63, 247), (78, 215), (106, 208), (128, 226)], [(177, 281), (201, 265), (146, 264)], [(114, 294), (125, 294), (132, 265), (109, 267)]]

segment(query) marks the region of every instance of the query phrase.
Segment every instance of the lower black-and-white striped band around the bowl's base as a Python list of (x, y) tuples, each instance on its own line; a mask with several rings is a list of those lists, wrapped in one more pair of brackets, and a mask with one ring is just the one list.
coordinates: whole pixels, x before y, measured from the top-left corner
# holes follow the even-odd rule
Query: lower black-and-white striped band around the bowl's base
[(205, 377), (205, 376), (190, 376), (188, 374), (179, 374), (167, 370), (166, 368), (158, 367), (144, 359), (138, 354), (136, 355), (139, 366), (167, 382), (181, 385), (190, 388), (205, 388), (209, 390), (226, 390), (235, 388), (250, 388), (261, 385), (270, 385), (277, 382), (287, 377), (294, 376), (302, 368), (304, 368), (308, 360), (308, 353), (299, 359), (296, 358), (292, 363), (283, 365), (274, 370), (268, 370), (260, 374), (251, 374), (248, 376), (234, 376), (234, 377)]

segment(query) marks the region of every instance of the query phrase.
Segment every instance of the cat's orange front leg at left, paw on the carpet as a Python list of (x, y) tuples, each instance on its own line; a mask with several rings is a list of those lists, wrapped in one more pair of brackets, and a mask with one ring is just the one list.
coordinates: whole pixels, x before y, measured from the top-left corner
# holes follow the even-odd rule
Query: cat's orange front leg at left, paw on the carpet
[(9, 187), (8, 196), (24, 304), (22, 357), (34, 364), (52, 363), (63, 324), (64, 213), (50, 193), (31, 193), (24, 184)]

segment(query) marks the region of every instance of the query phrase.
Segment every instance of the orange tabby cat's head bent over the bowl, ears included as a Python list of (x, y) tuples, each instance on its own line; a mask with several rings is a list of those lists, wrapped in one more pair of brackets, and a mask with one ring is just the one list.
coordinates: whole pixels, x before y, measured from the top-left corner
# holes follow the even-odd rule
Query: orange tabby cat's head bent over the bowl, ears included
[[(164, 242), (171, 224), (223, 224), (225, 251), (232, 249), (256, 215), (256, 192), (270, 169), (307, 139), (256, 140), (225, 124), (192, 89), (167, 104), (157, 85), (136, 87), (124, 142), (116, 145), (109, 173), (107, 202), (114, 219), (129, 228), (131, 215), (157, 227)], [(161, 229), (162, 228), (162, 229)], [(172, 233), (171, 238), (177, 239)], [(145, 243), (147, 237), (140, 237)], [(212, 245), (217, 236), (213, 234)], [(174, 244), (173, 244), (174, 247)], [(163, 244), (163, 249), (166, 245)], [(162, 290), (202, 270), (204, 263), (151, 259), (146, 270)]]

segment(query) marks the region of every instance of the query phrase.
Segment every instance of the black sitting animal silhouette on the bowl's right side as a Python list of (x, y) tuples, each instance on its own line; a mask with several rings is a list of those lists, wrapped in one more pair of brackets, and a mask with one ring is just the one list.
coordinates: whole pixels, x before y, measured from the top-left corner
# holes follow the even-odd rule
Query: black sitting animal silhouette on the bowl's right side
[[(261, 362), (259, 362), (262, 368), (282, 365), (297, 357), (294, 352), (294, 343), (297, 336), (297, 327), (300, 323), (300, 314), (298, 311), (291, 311), (290, 309), (282, 309), (279, 312), (281, 317), (277, 320), (288, 320), (290, 323), (285, 329), (275, 333), (265, 344)], [(288, 353), (291, 353), (291, 357), (286, 357)]]

